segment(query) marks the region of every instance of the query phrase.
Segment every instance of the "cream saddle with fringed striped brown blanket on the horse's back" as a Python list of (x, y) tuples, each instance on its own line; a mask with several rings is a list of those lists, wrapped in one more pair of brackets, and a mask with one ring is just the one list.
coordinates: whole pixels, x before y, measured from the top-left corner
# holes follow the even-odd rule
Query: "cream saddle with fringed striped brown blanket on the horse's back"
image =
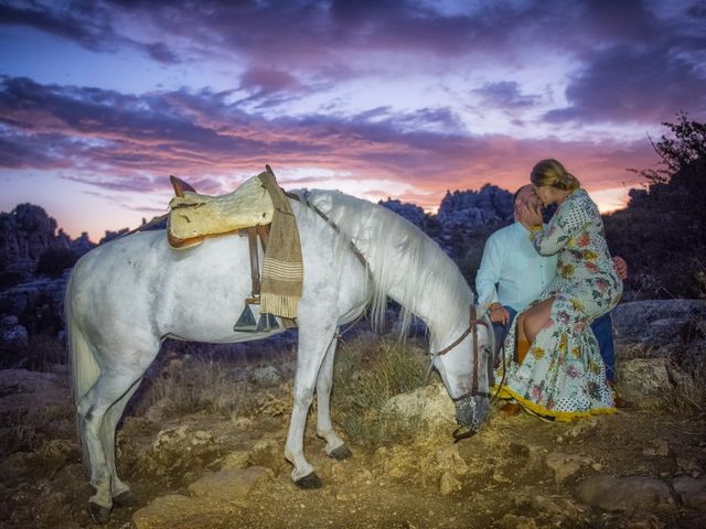
[[(171, 181), (176, 196), (169, 203), (167, 233), (175, 249), (199, 245), (206, 237), (269, 225), (268, 240), (263, 241), (260, 312), (295, 319), (303, 284), (299, 229), (269, 165), (233, 193), (220, 196), (200, 195), (174, 176)], [(255, 277), (253, 283), (255, 291)]]

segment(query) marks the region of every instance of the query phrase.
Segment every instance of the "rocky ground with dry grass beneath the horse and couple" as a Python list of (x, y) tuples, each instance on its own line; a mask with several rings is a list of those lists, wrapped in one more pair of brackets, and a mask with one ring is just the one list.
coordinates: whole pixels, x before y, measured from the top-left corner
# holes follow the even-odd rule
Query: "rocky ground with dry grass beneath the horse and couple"
[[(218, 354), (167, 344), (118, 433), (137, 504), (117, 507), (107, 527), (704, 527), (704, 316), (703, 301), (621, 304), (620, 389), (633, 408), (556, 424), (495, 412), (458, 444), (438, 379), (361, 409), (351, 384), (370, 386), (366, 369), (391, 349), (353, 334), (333, 400), (353, 456), (328, 458), (310, 421), (307, 454), (324, 481), (314, 490), (291, 484), (282, 457), (291, 338)], [(422, 368), (424, 349), (411, 338), (397, 361)], [(2, 527), (92, 525), (66, 364), (47, 358), (42, 370), (0, 370)], [(391, 417), (405, 429), (383, 428)]]

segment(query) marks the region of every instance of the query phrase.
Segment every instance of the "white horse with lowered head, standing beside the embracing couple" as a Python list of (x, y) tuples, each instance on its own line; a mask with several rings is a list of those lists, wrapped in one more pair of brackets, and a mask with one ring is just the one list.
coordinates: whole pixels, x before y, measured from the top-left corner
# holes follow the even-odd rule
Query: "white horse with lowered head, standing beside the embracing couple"
[[(488, 356), (493, 333), (486, 320), (475, 321), (473, 294), (453, 261), (417, 227), (381, 206), (325, 191), (290, 202), (304, 264), (293, 408), (285, 447), (293, 465), (292, 481), (302, 487), (320, 486), (303, 452), (314, 389), (317, 433), (325, 440), (327, 454), (350, 455), (330, 417), (336, 331), (371, 303), (374, 320), (381, 322), (387, 296), (403, 306), (404, 322), (414, 313), (426, 323), (431, 361), (456, 402), (457, 421), (478, 429), (490, 409)], [(364, 256), (365, 266), (351, 244)], [(162, 341), (235, 343), (272, 335), (233, 331), (243, 300), (250, 294), (249, 272), (247, 238), (224, 236), (173, 250), (163, 230), (99, 246), (74, 267), (66, 323), (84, 464), (96, 489), (89, 499), (94, 519), (106, 521), (114, 505), (132, 499), (116, 472), (116, 425)]]

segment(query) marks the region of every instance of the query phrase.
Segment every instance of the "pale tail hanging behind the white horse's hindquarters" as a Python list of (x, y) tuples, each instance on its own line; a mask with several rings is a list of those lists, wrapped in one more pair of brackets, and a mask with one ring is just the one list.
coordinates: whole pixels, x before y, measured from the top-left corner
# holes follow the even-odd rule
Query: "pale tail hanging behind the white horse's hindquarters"
[[(100, 375), (100, 368), (96, 363), (93, 348), (86, 338), (83, 330), (76, 321), (74, 313), (75, 302), (75, 273), (72, 271), (68, 284), (66, 287), (66, 296), (64, 300), (64, 311), (66, 316), (66, 343), (69, 350), (71, 359), (71, 387), (74, 400), (74, 407), (78, 406), (81, 398), (88, 392), (90, 387), (96, 382)], [(82, 425), (82, 418), (76, 412), (76, 431), (81, 443), (82, 461), (86, 474), (90, 473), (90, 461), (88, 456), (88, 447), (86, 445), (85, 430)]]

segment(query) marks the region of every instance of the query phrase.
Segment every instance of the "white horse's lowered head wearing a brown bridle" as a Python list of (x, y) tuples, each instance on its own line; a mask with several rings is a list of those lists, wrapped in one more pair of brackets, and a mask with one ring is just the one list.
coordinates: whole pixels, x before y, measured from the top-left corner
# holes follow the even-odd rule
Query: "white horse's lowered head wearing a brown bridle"
[(438, 352), (435, 360), (456, 406), (457, 422), (472, 433), (478, 431), (490, 413), (494, 342), (490, 320), (486, 316), (478, 319), (475, 309), (471, 307), (466, 332), (450, 346)]

